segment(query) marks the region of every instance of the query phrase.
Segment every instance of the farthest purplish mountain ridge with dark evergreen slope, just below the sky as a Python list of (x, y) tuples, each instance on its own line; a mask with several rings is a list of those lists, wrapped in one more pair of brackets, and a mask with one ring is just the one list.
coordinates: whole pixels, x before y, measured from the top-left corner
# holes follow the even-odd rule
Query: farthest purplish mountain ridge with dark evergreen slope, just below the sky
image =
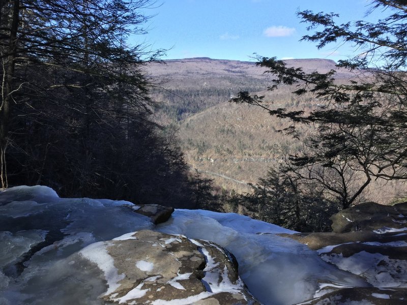
[[(292, 59), (287, 65), (307, 72), (335, 68), (328, 59)], [(154, 63), (147, 67), (150, 80), (157, 83), (152, 96), (161, 104), (160, 121), (182, 120), (211, 106), (226, 102), (240, 91), (262, 92), (271, 83), (270, 74), (254, 62), (210, 58), (186, 58)], [(347, 72), (348, 76), (350, 75)], [(288, 92), (287, 92), (288, 93)]]

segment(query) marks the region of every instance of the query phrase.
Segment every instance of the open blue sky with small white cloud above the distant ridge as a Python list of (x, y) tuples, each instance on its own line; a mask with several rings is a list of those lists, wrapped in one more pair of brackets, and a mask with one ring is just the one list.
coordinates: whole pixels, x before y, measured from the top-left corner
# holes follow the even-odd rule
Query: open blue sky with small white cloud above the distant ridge
[[(339, 22), (366, 17), (368, 0), (164, 0), (145, 10), (155, 15), (142, 39), (153, 49), (169, 49), (162, 59), (211, 57), (253, 60), (253, 53), (284, 58), (344, 59), (352, 46), (335, 45), (317, 50), (310, 42), (299, 42), (307, 33), (296, 12), (335, 12)], [(157, 7), (159, 4), (161, 6)], [(140, 37), (138, 37), (140, 38)]]

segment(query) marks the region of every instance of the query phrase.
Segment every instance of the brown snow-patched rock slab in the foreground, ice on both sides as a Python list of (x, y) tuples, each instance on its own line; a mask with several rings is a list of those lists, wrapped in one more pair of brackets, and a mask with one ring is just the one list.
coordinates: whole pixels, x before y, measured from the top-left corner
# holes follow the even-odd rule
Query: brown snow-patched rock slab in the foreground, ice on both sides
[(107, 289), (101, 298), (107, 303), (257, 304), (233, 257), (208, 241), (142, 230), (81, 254), (103, 271)]

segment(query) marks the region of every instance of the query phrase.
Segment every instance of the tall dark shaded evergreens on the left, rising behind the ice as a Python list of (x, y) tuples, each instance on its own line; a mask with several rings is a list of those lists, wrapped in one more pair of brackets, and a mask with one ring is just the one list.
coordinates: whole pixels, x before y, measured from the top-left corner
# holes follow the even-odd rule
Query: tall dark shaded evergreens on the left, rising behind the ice
[(150, 0), (3, 0), (2, 185), (187, 206), (188, 167), (154, 123)]

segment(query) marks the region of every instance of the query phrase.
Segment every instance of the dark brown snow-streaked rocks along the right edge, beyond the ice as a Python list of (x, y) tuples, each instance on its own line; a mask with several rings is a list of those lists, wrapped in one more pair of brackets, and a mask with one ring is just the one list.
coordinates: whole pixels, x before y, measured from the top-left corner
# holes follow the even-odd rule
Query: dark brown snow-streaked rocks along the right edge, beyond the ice
[[(371, 287), (322, 287), (303, 304), (407, 303), (407, 203), (367, 202), (331, 217), (333, 232), (283, 234)], [(321, 296), (318, 296), (320, 294)]]

